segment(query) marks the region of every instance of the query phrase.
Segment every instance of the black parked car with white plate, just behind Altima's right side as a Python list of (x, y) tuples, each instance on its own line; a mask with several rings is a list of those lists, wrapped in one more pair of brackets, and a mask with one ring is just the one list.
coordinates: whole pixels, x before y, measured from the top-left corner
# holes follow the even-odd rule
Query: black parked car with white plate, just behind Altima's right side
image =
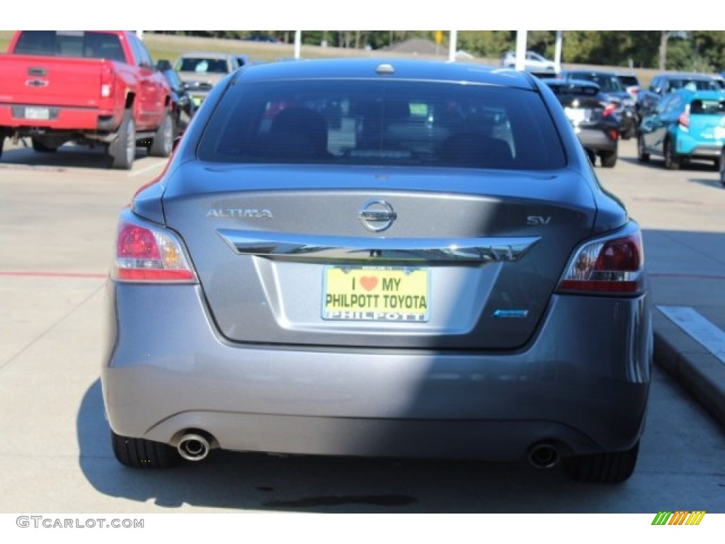
[(600, 157), (603, 167), (616, 165), (619, 144), (619, 118), (616, 106), (591, 81), (544, 81), (558, 98), (571, 126), (595, 164)]

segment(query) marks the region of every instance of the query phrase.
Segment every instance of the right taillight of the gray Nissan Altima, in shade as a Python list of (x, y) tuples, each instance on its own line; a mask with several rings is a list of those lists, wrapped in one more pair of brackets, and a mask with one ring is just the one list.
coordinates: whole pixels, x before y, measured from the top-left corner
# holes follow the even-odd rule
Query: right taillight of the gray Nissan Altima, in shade
[(580, 247), (559, 282), (559, 292), (639, 294), (644, 289), (645, 254), (637, 230)]

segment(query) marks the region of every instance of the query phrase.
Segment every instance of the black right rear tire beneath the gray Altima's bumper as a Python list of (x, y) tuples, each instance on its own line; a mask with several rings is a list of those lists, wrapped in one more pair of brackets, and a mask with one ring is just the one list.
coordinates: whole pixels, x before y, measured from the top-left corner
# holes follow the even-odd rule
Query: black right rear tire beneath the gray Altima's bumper
[(626, 451), (595, 453), (563, 459), (564, 470), (576, 482), (620, 484), (634, 472), (639, 453), (639, 440)]

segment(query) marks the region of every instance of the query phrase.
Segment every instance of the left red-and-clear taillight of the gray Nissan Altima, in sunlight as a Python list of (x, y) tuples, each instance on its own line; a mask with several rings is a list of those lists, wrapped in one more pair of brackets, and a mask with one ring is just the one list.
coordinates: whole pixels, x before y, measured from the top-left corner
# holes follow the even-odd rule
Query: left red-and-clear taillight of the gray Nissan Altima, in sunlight
[(181, 241), (169, 231), (122, 220), (111, 277), (116, 281), (196, 283)]

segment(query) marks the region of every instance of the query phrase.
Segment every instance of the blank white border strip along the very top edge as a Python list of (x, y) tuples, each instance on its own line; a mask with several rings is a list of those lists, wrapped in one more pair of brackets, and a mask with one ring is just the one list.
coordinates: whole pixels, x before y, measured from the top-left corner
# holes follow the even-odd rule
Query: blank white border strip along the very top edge
[[(591, 4), (587, 9), (582, 9), (581, 2), (573, 0), (365, 0), (360, 3), (204, 0), (201, 4), (149, 0), (124, 0), (122, 4), (99, 4), (97, 0), (35, 0), (24, 4), (11, 0), (7, 4), (0, 20), (2, 30), (80, 30), (79, 27), (156, 30), (294, 30), (299, 27), (303, 30), (722, 29), (721, 17), (703, 19), (699, 15), (721, 12), (721, 0), (700, 0), (697, 10), (655, 10), (651, 4), (632, 0), (608, 0)], [(114, 5), (123, 5), (123, 9), (114, 9)], [(595, 10), (597, 7), (600, 13)], [(647, 26), (642, 28), (642, 25)]]

